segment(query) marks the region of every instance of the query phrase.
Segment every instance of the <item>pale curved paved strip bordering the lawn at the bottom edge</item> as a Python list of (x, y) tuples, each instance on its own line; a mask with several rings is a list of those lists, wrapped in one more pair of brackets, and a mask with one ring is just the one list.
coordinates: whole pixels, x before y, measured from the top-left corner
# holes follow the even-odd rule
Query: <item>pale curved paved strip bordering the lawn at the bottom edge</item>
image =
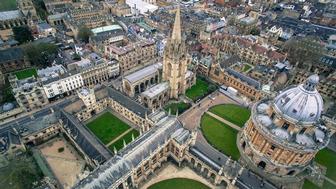
[(140, 187), (141, 189), (147, 189), (148, 187), (150, 187), (151, 185), (155, 183), (158, 183), (160, 181), (167, 180), (167, 179), (172, 179), (172, 178), (188, 178), (188, 179), (201, 182), (212, 189), (220, 188), (220, 187), (216, 187), (213, 184), (211, 184), (207, 179), (198, 175), (189, 167), (179, 168), (172, 163), (169, 163), (166, 167), (161, 168), (158, 173), (154, 173), (154, 174), (155, 176), (152, 179), (150, 179), (148, 182), (146, 182), (142, 187)]

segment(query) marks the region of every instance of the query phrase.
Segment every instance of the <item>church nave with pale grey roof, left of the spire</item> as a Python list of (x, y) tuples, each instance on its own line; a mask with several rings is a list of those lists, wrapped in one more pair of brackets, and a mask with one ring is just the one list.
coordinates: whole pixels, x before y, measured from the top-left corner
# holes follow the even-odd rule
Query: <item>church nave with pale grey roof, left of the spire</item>
[(161, 63), (146, 66), (123, 77), (123, 91), (130, 97), (138, 95), (160, 82)]

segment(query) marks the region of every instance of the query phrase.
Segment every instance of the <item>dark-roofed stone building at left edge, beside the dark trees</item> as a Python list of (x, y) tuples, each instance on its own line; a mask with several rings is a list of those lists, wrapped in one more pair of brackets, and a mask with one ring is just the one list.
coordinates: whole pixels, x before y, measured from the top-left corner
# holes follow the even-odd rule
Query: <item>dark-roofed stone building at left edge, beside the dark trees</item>
[(21, 48), (9, 48), (0, 50), (0, 70), (2, 73), (9, 73), (30, 66)]

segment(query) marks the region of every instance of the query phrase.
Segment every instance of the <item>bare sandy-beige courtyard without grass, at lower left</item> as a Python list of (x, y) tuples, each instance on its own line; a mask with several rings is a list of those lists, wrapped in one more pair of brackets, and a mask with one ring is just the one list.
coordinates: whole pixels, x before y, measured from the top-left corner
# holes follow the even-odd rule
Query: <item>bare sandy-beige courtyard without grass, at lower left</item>
[(65, 189), (71, 188), (85, 169), (84, 159), (62, 137), (41, 145), (39, 150)]

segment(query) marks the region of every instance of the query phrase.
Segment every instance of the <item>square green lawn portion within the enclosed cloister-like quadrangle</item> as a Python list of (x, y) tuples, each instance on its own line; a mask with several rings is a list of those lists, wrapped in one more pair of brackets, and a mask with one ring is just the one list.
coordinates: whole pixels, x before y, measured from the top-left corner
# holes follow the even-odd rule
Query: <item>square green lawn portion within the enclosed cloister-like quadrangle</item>
[(130, 126), (121, 121), (119, 118), (105, 112), (86, 125), (104, 144), (109, 143), (125, 131)]

